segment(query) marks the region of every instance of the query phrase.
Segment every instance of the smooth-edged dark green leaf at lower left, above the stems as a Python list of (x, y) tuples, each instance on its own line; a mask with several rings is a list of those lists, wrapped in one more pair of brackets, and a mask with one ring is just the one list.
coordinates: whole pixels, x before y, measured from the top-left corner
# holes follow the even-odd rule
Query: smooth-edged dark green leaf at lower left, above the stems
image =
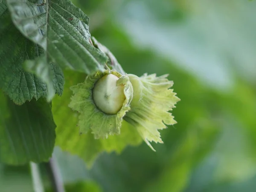
[(0, 92), (0, 161), (18, 165), (47, 161), (55, 143), (51, 104), (41, 98), (15, 105)]

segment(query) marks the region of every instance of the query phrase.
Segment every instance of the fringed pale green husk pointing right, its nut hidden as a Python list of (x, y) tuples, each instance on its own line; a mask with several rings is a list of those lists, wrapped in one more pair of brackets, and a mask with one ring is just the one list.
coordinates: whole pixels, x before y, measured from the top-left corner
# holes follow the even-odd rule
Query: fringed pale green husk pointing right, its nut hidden
[(133, 86), (134, 95), (131, 110), (126, 113), (125, 120), (134, 125), (145, 143), (155, 151), (149, 142), (163, 143), (158, 129), (177, 123), (168, 111), (175, 108), (180, 99), (172, 89), (169, 89), (173, 81), (166, 79), (168, 75), (127, 76)]

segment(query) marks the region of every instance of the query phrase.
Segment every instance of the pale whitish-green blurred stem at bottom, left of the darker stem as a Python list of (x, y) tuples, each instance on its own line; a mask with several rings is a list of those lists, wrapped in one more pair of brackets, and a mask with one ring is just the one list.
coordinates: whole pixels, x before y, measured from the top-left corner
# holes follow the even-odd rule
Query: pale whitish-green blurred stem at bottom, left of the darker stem
[(44, 186), (41, 180), (38, 164), (33, 162), (30, 162), (29, 164), (31, 169), (34, 192), (44, 192)]

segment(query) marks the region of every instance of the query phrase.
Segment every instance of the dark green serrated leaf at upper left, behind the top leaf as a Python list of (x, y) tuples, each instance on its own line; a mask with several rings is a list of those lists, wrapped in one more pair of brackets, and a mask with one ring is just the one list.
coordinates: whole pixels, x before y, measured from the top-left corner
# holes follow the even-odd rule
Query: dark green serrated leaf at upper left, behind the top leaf
[(44, 51), (15, 28), (5, 0), (0, 3), (0, 20), (0, 89), (18, 105), (32, 98), (52, 96), (55, 92), (61, 95), (64, 80), (57, 66), (51, 64), (51, 73), (55, 74), (52, 93), (37, 76), (23, 70), (22, 64), (26, 59), (34, 59)]

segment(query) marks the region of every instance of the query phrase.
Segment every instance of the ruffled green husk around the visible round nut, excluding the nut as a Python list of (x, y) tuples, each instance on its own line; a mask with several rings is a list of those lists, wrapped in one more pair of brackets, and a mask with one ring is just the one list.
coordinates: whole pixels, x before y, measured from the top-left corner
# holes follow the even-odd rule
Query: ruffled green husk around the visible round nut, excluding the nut
[[(119, 79), (117, 85), (123, 85), (125, 100), (122, 108), (116, 114), (107, 114), (99, 110), (93, 101), (93, 88), (99, 79), (108, 74), (113, 74)], [(110, 87), (111, 88), (111, 87)], [(79, 114), (79, 131), (81, 134), (91, 131), (95, 139), (108, 138), (108, 135), (120, 134), (123, 116), (129, 111), (130, 102), (133, 96), (133, 88), (129, 78), (122, 76), (115, 70), (105, 70), (87, 76), (83, 83), (70, 87), (73, 91), (69, 107)]]

